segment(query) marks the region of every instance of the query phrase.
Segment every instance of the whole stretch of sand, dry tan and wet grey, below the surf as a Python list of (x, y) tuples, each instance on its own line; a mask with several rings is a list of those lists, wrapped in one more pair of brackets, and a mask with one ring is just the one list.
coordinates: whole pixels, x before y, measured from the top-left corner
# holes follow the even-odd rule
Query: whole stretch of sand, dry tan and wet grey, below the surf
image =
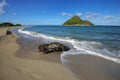
[(37, 41), (13, 33), (0, 42), (0, 80), (120, 80), (118, 63), (68, 54), (62, 64), (60, 54), (38, 52)]

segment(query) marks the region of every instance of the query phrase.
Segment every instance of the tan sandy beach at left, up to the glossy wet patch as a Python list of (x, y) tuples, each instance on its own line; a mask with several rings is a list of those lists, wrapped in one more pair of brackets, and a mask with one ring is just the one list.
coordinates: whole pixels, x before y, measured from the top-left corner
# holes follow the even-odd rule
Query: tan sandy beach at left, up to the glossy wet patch
[[(6, 30), (7, 28), (0, 28), (1, 34), (5, 35)], [(13, 33), (0, 41), (0, 80), (77, 80), (61, 64), (59, 55), (25, 51), (25, 47), (21, 48), (17, 43), (19, 38)], [(24, 53), (33, 56), (23, 57)]]

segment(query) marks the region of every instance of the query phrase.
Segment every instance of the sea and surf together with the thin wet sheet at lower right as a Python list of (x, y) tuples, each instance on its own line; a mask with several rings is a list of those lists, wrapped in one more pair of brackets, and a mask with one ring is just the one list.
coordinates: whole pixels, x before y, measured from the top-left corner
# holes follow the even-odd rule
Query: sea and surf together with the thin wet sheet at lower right
[(119, 31), (118, 26), (25, 26), (17, 32), (29, 40), (38, 39), (40, 43), (57, 41), (69, 46), (71, 50), (61, 55), (61, 61), (78, 79), (119, 80)]

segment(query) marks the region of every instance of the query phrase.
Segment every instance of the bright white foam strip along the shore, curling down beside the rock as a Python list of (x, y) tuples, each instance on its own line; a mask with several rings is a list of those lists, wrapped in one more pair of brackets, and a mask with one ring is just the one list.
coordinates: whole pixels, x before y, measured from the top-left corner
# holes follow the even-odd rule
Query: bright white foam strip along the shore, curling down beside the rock
[[(61, 37), (53, 37), (53, 36), (48, 36), (48, 35), (44, 35), (41, 33), (35, 33), (32, 31), (25, 31), (22, 29), (19, 29), (18, 31), (20, 33), (24, 33), (24, 34), (28, 34), (30, 36), (34, 36), (34, 37), (43, 37), (45, 39), (51, 39), (51, 40), (56, 40), (56, 41), (64, 41), (64, 42), (69, 42), (73, 45), (73, 47), (77, 50), (77, 52), (75, 50), (70, 50), (67, 52), (64, 52), (61, 55), (61, 59), (63, 59), (63, 56), (70, 54), (70, 55), (76, 55), (76, 54), (90, 54), (90, 55), (95, 55), (95, 56), (99, 56), (117, 63), (120, 63), (120, 59), (112, 57), (112, 56), (108, 56), (105, 54), (101, 54), (100, 52), (96, 52), (94, 51), (94, 47), (93, 46), (102, 46), (102, 44), (100, 42), (91, 42), (91, 41), (77, 41), (75, 39), (70, 39), (68, 37), (66, 38), (61, 38)], [(93, 50), (92, 50), (93, 49)]]

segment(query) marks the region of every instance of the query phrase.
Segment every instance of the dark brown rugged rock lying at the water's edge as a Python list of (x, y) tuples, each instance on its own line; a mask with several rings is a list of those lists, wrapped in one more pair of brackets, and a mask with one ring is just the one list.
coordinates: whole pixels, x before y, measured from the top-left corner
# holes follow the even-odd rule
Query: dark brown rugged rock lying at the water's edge
[(64, 46), (61, 43), (58, 42), (52, 42), (49, 44), (43, 44), (38, 47), (38, 50), (43, 53), (52, 53), (52, 52), (62, 52), (62, 51), (68, 51), (70, 50), (69, 47)]

